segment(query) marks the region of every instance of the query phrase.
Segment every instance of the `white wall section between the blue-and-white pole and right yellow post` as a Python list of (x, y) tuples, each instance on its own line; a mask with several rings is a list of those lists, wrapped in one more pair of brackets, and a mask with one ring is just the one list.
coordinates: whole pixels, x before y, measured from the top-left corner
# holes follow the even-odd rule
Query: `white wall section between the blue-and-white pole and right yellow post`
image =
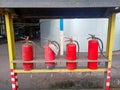
[(67, 19), (65, 21), (65, 36), (73, 36), (80, 44), (80, 51), (86, 52), (88, 34), (95, 34), (103, 40), (106, 46), (106, 38), (104, 37), (107, 36), (107, 24), (107, 19)]

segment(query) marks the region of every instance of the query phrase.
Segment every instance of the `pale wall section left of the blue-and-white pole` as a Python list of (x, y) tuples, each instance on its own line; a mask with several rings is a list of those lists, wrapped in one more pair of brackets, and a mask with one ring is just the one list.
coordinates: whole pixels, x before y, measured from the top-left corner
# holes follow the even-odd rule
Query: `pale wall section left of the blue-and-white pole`
[(40, 33), (41, 46), (44, 46), (48, 40), (59, 41), (59, 19), (41, 19)]

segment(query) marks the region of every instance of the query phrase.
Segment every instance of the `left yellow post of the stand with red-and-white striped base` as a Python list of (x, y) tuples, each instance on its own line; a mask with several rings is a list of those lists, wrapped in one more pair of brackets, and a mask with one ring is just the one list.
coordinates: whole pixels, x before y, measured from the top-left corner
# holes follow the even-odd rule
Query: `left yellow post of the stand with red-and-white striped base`
[(18, 81), (18, 79), (16, 79), (17, 74), (15, 74), (15, 72), (14, 72), (15, 64), (13, 64), (13, 62), (12, 62), (16, 57), (13, 23), (12, 23), (12, 17), (8, 12), (5, 12), (5, 24), (6, 24), (6, 33), (7, 33), (7, 42), (8, 42), (8, 53), (9, 53), (12, 90), (18, 90), (18, 88), (16, 86), (16, 81)]

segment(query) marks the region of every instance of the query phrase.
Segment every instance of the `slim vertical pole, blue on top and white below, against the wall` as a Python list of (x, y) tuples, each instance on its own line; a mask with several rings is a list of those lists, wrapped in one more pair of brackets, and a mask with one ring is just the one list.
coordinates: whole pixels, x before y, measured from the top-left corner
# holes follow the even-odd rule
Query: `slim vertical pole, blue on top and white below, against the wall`
[(64, 29), (63, 29), (63, 19), (60, 19), (60, 55), (64, 53)]

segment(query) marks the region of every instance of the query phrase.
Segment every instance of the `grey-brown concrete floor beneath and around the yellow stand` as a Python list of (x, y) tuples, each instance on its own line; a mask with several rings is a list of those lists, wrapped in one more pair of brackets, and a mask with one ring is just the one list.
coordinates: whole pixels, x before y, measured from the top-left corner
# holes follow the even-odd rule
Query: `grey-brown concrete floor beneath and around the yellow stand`
[[(39, 42), (37, 48), (39, 48)], [(21, 58), (22, 42), (16, 42), (17, 58)], [(37, 49), (36, 56), (39, 56), (41, 51)], [(43, 51), (42, 51), (43, 53)], [(101, 88), (103, 84), (103, 73), (36, 73), (36, 74), (18, 74), (19, 90), (43, 90), (43, 89), (79, 89), (84, 87), (89, 88), (86, 84), (89, 81), (94, 88)], [(70, 84), (70, 86), (68, 85)], [(84, 84), (85, 83), (85, 84)], [(95, 84), (95, 86), (93, 85)], [(64, 86), (65, 85), (65, 86)], [(72, 87), (71, 87), (72, 86)], [(84, 87), (83, 87), (84, 86)], [(111, 87), (120, 87), (120, 53), (114, 53)], [(67, 89), (65, 89), (67, 88)], [(9, 60), (7, 44), (0, 45), (0, 90), (11, 90), (11, 80), (9, 72)], [(85, 89), (83, 89), (85, 90)], [(93, 89), (91, 89), (93, 90)], [(96, 89), (95, 89), (96, 90)], [(120, 90), (120, 89), (113, 89)]]

